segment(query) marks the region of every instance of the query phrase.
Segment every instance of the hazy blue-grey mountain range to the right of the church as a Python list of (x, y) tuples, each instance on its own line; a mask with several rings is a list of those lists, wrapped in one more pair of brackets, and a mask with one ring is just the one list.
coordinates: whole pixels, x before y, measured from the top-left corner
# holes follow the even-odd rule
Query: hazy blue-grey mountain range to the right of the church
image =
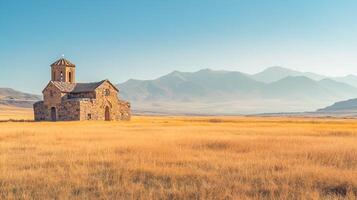
[(118, 87), (121, 97), (138, 112), (174, 114), (300, 112), (357, 97), (357, 88), (324, 76), (276, 67), (268, 72), (271, 82), (258, 81), (262, 73), (204, 69), (174, 71), (155, 80), (131, 79)]

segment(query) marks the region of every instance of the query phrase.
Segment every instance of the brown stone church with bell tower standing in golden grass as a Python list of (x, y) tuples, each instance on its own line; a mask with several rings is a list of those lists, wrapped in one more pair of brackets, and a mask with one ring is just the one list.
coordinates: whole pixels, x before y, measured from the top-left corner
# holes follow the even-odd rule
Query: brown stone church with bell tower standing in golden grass
[(51, 65), (43, 101), (34, 104), (36, 121), (130, 120), (130, 104), (109, 80), (76, 83), (76, 66), (61, 58)]

